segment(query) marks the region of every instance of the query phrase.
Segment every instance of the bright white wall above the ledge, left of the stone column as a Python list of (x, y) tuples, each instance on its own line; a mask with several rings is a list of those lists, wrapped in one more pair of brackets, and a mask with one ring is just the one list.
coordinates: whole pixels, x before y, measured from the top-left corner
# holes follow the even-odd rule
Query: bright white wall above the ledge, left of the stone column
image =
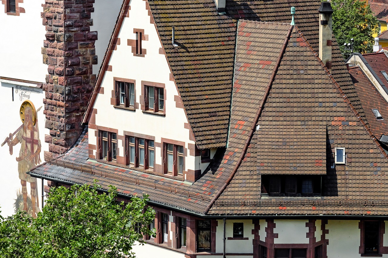
[(43, 64), (41, 48), (45, 26), (40, 13), (44, 0), (19, 3), (26, 13), (7, 15), (0, 2), (0, 76), (44, 82), (47, 65)]

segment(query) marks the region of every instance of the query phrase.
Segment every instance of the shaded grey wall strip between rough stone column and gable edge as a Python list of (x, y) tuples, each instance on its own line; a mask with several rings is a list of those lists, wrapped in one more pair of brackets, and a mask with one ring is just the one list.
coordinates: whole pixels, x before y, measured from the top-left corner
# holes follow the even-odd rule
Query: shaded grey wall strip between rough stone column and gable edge
[(91, 15), (93, 26), (90, 26), (90, 31), (98, 32), (98, 40), (95, 42), (98, 63), (93, 65), (94, 74), (99, 72), (122, 4), (123, 0), (96, 0), (94, 3), (94, 12)]

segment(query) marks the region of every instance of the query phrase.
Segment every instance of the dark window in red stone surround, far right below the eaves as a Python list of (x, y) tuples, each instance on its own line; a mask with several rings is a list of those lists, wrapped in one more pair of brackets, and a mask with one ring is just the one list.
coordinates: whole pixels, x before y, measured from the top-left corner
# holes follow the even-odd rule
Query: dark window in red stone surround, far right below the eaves
[(382, 243), (382, 237), (380, 237), (382, 223), (380, 221), (364, 221), (363, 223), (361, 239), (364, 240), (364, 243), (361, 244), (364, 246), (361, 251), (365, 255), (378, 255)]

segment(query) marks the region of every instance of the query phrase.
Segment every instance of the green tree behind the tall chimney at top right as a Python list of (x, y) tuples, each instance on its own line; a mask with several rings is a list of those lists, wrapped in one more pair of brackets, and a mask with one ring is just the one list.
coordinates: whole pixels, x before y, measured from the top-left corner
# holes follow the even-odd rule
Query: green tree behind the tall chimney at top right
[(331, 7), (334, 10), (333, 33), (341, 52), (344, 53), (344, 43), (350, 43), (351, 38), (354, 39), (353, 52), (372, 52), (372, 35), (378, 33), (378, 21), (369, 5), (362, 0), (331, 0)]

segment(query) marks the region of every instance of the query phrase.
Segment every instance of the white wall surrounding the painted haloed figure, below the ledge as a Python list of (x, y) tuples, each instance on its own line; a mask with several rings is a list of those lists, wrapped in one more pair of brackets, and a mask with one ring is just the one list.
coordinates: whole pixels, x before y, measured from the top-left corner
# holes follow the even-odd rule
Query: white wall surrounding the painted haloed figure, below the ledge
[[(0, 103), (2, 103), (3, 110), (0, 112), (0, 118), (2, 124), (0, 126), (0, 140), (1, 143), (5, 140), (10, 133), (13, 133), (19, 126), (21, 126), (22, 121), (20, 120), (19, 110), (22, 102), (28, 98), (20, 99), (20, 91), (16, 93), (14, 91), (14, 101), (12, 101), (12, 86), (16, 89), (16, 85), (9, 83), (0, 83)], [(42, 89), (26, 87), (23, 88), (33, 89), (38, 91), (38, 93), (26, 93), (29, 95), (29, 100), (31, 100), (35, 108), (43, 106), (43, 97), (44, 93)], [(43, 160), (43, 150), (48, 150), (48, 144), (45, 143), (45, 134), (49, 134), (49, 130), (45, 128), (45, 115), (43, 114), (43, 109), (37, 113), (38, 115), (38, 128), (39, 128), (39, 138), (42, 144), (42, 150), (40, 152), (40, 158)], [(10, 216), (14, 213), (14, 203), (16, 199), (16, 191), (21, 191), (21, 183), (19, 179), (19, 173), (17, 171), (17, 161), (16, 157), (19, 157), (20, 144), (18, 143), (13, 147), (13, 154), (9, 154), (9, 147), (7, 144), (0, 147), (0, 160), (2, 164), (2, 169), (0, 174), (2, 180), (0, 181), (0, 210), (3, 217)], [(42, 195), (42, 184), (40, 179), (37, 180), (38, 187), (38, 197), (39, 197), (39, 208), (42, 207), (41, 195)], [(45, 182), (47, 184), (47, 182)], [(28, 194), (30, 194), (30, 184), (27, 182)]]

